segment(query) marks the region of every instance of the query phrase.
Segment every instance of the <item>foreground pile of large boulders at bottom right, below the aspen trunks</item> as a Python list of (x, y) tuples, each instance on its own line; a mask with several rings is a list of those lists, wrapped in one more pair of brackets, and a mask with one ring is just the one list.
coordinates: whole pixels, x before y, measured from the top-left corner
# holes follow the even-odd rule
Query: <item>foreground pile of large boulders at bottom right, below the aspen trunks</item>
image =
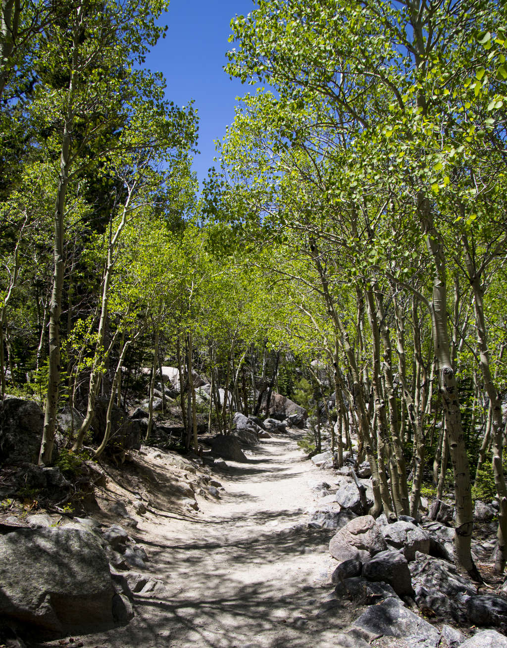
[[(413, 636), (415, 641), (422, 635), (425, 643), (417, 645), (439, 645), (440, 632), (409, 609), (415, 602), (429, 617), (507, 632), (507, 600), (495, 594), (478, 594), (477, 586), (442, 557), (447, 553), (445, 548), (427, 529), (415, 520), (377, 522), (370, 515), (358, 516), (339, 529), (329, 543), (329, 551), (339, 563), (333, 573), (335, 596), (359, 597), (375, 604), (355, 625), (377, 636)], [(507, 646), (507, 638), (499, 636), (504, 642), (499, 645)], [(453, 645), (464, 642), (463, 636)]]

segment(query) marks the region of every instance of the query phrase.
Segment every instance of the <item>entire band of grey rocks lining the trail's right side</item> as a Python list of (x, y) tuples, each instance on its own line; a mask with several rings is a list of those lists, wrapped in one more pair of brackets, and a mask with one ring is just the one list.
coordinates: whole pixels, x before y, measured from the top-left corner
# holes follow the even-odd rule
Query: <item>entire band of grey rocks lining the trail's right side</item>
[[(325, 467), (333, 456), (322, 453), (313, 459), (316, 465)], [(437, 520), (422, 518), (418, 522), (400, 516), (389, 524), (385, 515), (375, 520), (364, 515), (365, 506), (373, 503), (373, 492), (368, 470), (361, 474), (357, 480), (340, 474), (309, 483), (318, 503), (309, 511), (308, 526), (336, 531), (329, 543), (329, 551), (338, 561), (332, 579), (333, 597), (371, 606), (351, 631), (359, 631), (368, 642), (386, 635), (403, 637), (408, 645), (423, 648), (507, 647), (507, 638), (498, 632), (507, 633), (507, 599), (478, 594), (477, 585), (456, 570), (454, 529), (446, 524), (452, 515), (449, 517), (446, 507), (440, 507)], [(479, 505), (478, 513), (490, 519), (489, 507)], [(410, 609), (414, 606), (428, 618), (490, 630), (469, 640), (448, 625), (437, 631)]]

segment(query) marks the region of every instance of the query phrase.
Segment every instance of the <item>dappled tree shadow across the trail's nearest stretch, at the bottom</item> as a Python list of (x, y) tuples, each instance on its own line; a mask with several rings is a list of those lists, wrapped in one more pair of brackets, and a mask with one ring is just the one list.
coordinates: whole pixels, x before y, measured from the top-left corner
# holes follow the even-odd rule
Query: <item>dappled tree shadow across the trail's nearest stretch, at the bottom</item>
[[(305, 627), (305, 616), (318, 607), (316, 594), (322, 592), (294, 583), (281, 596), (276, 583), (244, 584), (226, 578), (220, 588), (209, 588), (203, 583), (200, 592), (193, 590), (163, 600), (136, 597), (136, 627), (121, 629), (110, 637), (108, 645), (307, 648), (316, 645), (312, 634), (318, 627), (331, 627), (338, 632), (348, 625), (353, 614), (343, 607), (331, 618), (314, 618), (312, 627)], [(136, 643), (138, 633), (143, 643)], [(274, 633), (276, 636), (272, 636)], [(262, 643), (261, 636), (265, 638)]]

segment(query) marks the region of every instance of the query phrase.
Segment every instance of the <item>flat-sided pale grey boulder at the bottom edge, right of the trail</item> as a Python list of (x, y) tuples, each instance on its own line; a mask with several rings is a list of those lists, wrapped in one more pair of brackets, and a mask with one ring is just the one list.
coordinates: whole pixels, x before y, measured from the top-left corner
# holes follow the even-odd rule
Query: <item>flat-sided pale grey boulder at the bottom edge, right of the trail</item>
[(403, 638), (408, 645), (418, 648), (434, 648), (440, 642), (440, 632), (410, 612), (396, 597), (371, 605), (353, 626), (366, 631), (372, 640), (380, 636)]

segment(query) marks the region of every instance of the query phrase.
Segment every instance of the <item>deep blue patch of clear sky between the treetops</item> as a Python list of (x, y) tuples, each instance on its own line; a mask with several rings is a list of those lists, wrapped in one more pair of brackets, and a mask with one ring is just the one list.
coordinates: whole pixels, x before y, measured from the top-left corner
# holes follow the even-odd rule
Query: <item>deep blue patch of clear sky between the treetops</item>
[(255, 8), (252, 0), (171, 0), (160, 20), (167, 36), (147, 56), (146, 65), (163, 73), (167, 98), (178, 106), (195, 100), (199, 115), (200, 155), (194, 160), (200, 183), (207, 177), (215, 156), (214, 139), (222, 139), (234, 118), (235, 97), (252, 91), (222, 70), (230, 21)]

